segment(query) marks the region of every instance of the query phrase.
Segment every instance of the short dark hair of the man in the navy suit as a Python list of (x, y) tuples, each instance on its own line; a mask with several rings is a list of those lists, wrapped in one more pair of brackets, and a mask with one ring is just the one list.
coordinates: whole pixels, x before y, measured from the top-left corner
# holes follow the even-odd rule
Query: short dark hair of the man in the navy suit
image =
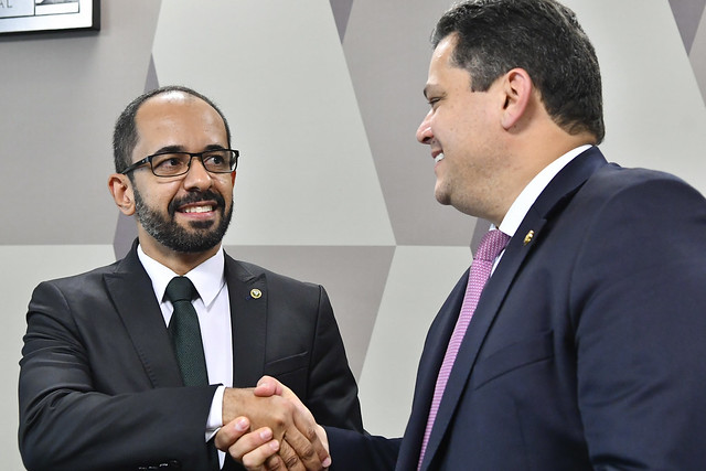
[(485, 92), (506, 72), (530, 74), (552, 119), (569, 133), (603, 140), (603, 103), (596, 51), (576, 14), (554, 0), (470, 0), (456, 4), (431, 35), (436, 47), (456, 34), (456, 65)]

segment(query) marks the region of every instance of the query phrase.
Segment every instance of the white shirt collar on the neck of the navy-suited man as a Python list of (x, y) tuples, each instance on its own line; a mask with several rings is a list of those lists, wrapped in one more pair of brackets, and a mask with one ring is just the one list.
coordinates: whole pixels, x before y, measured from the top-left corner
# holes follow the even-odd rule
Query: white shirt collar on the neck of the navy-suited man
[(564, 156), (559, 157), (547, 167), (545, 167), (539, 173), (537, 173), (512, 203), (512, 206), (510, 206), (510, 210), (507, 210), (505, 217), (503, 217), (503, 222), (500, 223), (500, 227), (498, 228), (511, 237), (514, 236), (515, 232), (517, 232), (517, 228), (520, 227), (520, 224), (522, 224), (522, 220), (525, 218), (527, 212), (530, 212), (530, 208), (532, 207), (534, 202), (537, 201), (537, 197), (539, 197), (549, 182), (571, 160), (578, 157), (581, 152), (588, 150), (590, 147), (590, 144), (585, 144), (569, 150)]

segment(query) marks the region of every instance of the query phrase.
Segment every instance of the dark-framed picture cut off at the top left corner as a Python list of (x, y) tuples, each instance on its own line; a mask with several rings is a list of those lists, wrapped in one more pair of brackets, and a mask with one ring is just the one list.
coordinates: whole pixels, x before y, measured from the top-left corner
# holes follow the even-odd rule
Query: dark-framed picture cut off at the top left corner
[(99, 29), (100, 0), (0, 0), (0, 34)]

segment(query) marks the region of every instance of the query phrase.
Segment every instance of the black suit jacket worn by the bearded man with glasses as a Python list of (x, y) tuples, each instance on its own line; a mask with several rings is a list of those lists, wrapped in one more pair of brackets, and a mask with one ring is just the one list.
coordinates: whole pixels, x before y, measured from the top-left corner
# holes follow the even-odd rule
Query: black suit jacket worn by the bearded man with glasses
[[(207, 469), (205, 420), (216, 386), (183, 387), (136, 247), (32, 295), (19, 388), (20, 451), (30, 470)], [(362, 430), (324, 289), (227, 255), (225, 277), (234, 386), (275, 376), (319, 422)]]

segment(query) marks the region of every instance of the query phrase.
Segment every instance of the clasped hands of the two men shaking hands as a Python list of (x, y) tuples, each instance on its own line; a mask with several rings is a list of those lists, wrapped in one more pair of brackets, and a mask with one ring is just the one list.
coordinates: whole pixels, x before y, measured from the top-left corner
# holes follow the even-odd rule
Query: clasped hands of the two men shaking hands
[(226, 388), (223, 424), (214, 441), (249, 471), (323, 470), (331, 465), (329, 443), (299, 398), (264, 376), (255, 389)]

